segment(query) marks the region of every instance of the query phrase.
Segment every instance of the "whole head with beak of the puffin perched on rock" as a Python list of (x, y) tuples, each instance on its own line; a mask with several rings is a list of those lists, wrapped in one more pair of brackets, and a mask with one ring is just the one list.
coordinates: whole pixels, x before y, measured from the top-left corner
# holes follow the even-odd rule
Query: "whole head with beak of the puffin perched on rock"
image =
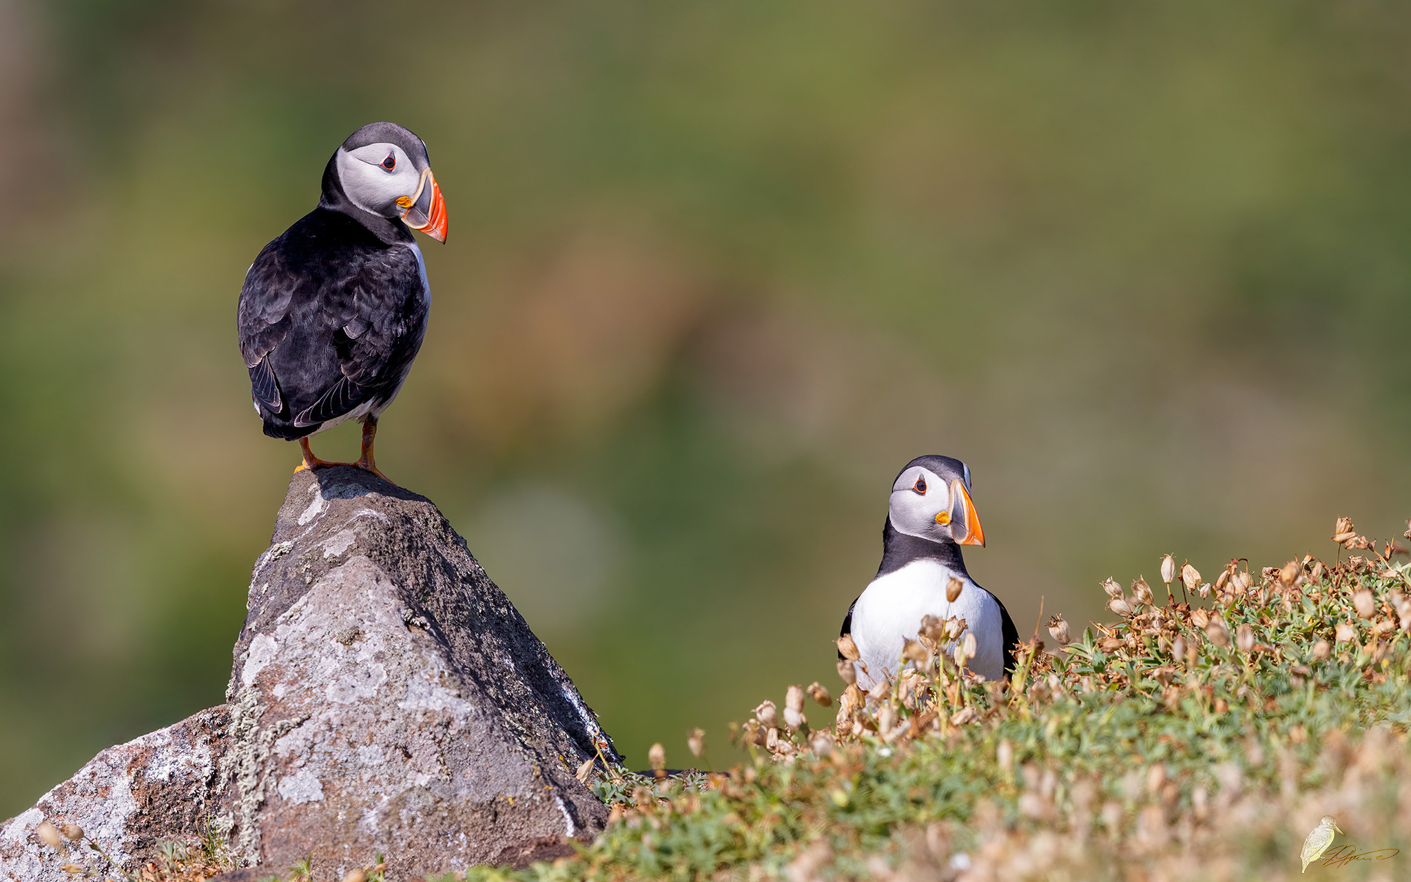
[(370, 123), (343, 141), (323, 174), (323, 203), (401, 220), (446, 241), (446, 200), (426, 144), (396, 123)]

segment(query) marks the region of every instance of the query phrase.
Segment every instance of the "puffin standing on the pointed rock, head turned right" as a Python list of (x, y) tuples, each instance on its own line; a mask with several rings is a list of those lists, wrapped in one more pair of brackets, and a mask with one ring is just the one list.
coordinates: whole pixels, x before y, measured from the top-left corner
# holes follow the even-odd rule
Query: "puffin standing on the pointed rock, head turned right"
[[(299, 469), (373, 460), (377, 418), (396, 398), (426, 333), (430, 286), (412, 230), (446, 241), (446, 202), (426, 144), (394, 123), (358, 128), (323, 169), (316, 209), (246, 272), (237, 326), (255, 412), (298, 439)], [(357, 463), (327, 463), (309, 436), (363, 422)]]

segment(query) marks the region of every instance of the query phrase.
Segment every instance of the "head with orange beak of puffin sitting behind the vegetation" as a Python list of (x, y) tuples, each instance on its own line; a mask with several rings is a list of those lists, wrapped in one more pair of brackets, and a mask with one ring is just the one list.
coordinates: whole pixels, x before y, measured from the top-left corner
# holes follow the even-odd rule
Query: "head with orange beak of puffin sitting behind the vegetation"
[(888, 518), (899, 533), (985, 545), (975, 502), (969, 497), (969, 466), (950, 456), (919, 456), (892, 483)]

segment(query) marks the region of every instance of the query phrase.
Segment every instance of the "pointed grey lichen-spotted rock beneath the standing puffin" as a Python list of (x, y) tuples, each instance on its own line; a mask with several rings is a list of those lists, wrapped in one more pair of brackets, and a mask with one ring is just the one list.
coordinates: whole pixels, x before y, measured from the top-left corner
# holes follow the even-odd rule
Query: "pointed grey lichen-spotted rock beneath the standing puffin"
[(375, 852), (398, 879), (523, 864), (602, 828), (573, 771), (617, 761), (611, 741), (423, 497), (351, 467), (296, 473), (234, 656), (226, 706), (100, 754), (0, 828), (0, 866), (68, 879), (42, 817), (128, 871), (209, 817), (241, 864), (312, 854), (317, 878)]

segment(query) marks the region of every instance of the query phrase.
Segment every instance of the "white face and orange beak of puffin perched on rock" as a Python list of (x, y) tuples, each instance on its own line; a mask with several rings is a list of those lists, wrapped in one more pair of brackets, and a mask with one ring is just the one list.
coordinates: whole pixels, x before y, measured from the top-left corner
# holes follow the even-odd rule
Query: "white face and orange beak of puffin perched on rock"
[[(425, 159), (423, 159), (425, 162)], [(413, 230), (446, 241), (446, 203), (430, 168), (396, 144), (339, 148), (339, 182), (357, 207), (382, 217), (399, 217)]]

